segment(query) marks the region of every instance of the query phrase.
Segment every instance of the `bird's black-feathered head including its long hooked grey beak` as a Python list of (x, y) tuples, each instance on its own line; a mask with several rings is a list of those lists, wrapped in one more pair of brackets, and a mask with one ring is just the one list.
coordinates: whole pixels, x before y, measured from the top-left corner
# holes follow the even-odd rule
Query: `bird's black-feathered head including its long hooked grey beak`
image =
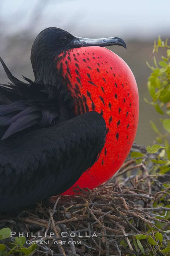
[(126, 48), (126, 43), (119, 37), (89, 39), (73, 36), (56, 27), (46, 28), (38, 34), (31, 49), (31, 63), (35, 80), (47, 81), (48, 69), (52, 68), (54, 58), (62, 51), (71, 48), (109, 45), (120, 45)]

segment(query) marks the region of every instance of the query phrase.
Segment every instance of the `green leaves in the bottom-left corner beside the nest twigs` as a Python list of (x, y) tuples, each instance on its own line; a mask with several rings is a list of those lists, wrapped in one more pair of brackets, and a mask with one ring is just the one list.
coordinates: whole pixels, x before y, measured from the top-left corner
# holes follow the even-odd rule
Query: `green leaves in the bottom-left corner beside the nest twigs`
[[(10, 236), (11, 236), (10, 228), (0, 229), (0, 240), (8, 239)], [(26, 242), (26, 237), (20, 236), (20, 237), (15, 237), (15, 242), (6, 242), (3, 244), (0, 244), (0, 256), (31, 255), (37, 248), (37, 245), (32, 244), (29, 247), (24, 247), (25, 242)]]

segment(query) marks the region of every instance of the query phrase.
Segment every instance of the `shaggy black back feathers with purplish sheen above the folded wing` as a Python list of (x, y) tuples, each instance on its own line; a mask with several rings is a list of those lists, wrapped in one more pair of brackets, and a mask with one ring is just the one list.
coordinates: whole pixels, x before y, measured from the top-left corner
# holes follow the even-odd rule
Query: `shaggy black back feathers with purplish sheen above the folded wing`
[(18, 80), (2, 58), (0, 61), (12, 82), (0, 84), (0, 138), (4, 140), (28, 128), (39, 129), (58, 123), (59, 92), (50, 89), (50, 85), (35, 83), (25, 76), (26, 83)]

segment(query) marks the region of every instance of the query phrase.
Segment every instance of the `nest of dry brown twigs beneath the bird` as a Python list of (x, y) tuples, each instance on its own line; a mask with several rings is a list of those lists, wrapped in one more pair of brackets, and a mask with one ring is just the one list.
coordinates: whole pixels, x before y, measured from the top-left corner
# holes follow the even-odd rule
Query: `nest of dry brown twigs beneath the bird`
[[(38, 241), (34, 255), (39, 256), (143, 255), (135, 251), (133, 237), (147, 234), (150, 227), (151, 236), (162, 233), (166, 247), (168, 233), (163, 231), (170, 229), (166, 218), (170, 194), (163, 184), (170, 175), (160, 180), (157, 174), (150, 174), (151, 156), (138, 145), (132, 150), (143, 152), (142, 160), (127, 159), (104, 185), (93, 191), (77, 188), (74, 196), (52, 197), (51, 208), (38, 204), (18, 217), (2, 216), (0, 228), (9, 227), (16, 236), (20, 232), (27, 240)], [(10, 239), (14, 241), (14, 237)]]

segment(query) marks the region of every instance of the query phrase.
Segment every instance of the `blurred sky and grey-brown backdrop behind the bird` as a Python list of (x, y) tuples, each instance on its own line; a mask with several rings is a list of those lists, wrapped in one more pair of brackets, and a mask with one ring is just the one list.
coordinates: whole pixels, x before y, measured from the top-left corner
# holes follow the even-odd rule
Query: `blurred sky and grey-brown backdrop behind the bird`
[[(162, 131), (161, 114), (144, 101), (150, 100), (147, 79), (153, 56), (160, 60), (165, 50), (153, 54), (153, 42), (169, 37), (170, 1), (135, 0), (0, 0), (0, 56), (11, 73), (33, 79), (30, 51), (36, 35), (46, 27), (59, 27), (75, 36), (99, 38), (118, 36), (127, 44), (108, 47), (129, 65), (136, 78), (140, 114), (135, 142), (151, 145), (155, 139), (149, 121)], [(0, 82), (7, 81), (0, 66)]]

